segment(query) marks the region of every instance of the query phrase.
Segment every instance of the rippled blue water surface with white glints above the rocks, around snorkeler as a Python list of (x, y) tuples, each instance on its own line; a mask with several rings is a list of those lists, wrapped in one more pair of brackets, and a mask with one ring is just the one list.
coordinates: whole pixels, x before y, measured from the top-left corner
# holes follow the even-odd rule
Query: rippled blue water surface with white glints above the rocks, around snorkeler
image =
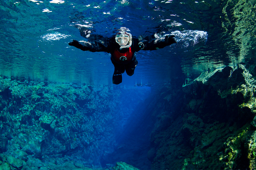
[(4, 0), (0, 2), (0, 74), (54, 82), (112, 84), (110, 54), (68, 45), (110, 37), (175, 35), (177, 44), (139, 51), (123, 84), (195, 78), (205, 70), (254, 61), (255, 1)]

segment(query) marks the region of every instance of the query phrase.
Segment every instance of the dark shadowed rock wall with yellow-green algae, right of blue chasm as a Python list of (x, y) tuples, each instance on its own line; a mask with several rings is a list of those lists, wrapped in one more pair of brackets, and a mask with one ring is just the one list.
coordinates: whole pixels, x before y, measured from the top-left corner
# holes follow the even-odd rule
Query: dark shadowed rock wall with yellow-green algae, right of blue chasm
[(253, 70), (227, 66), (203, 72), (183, 88), (168, 83), (158, 89), (148, 151), (152, 169), (255, 169)]

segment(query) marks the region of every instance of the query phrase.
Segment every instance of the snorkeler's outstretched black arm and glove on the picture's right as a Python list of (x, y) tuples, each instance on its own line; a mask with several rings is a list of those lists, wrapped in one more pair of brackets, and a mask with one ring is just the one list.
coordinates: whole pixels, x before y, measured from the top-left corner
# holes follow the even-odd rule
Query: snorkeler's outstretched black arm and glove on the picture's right
[(164, 39), (153, 39), (149, 41), (141, 41), (138, 43), (138, 47), (142, 50), (156, 50), (159, 48), (164, 48), (167, 45), (177, 43), (174, 39), (175, 36), (165, 36)]

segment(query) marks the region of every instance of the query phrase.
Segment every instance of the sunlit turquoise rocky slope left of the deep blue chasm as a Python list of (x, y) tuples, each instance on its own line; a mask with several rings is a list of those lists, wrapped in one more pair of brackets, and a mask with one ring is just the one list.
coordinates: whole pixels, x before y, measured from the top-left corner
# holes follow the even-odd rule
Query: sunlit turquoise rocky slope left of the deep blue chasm
[(0, 77), (0, 169), (101, 168), (147, 93)]

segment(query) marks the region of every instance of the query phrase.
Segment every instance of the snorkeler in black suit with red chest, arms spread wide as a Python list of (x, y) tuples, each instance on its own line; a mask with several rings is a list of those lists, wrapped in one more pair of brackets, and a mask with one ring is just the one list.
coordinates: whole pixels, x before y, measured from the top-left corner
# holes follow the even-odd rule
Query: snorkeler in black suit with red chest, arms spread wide
[(110, 39), (99, 38), (99, 40), (90, 42), (73, 40), (68, 44), (83, 51), (110, 53), (110, 59), (115, 67), (112, 82), (113, 84), (119, 84), (122, 82), (122, 73), (124, 71), (129, 76), (134, 74), (134, 69), (138, 64), (136, 52), (141, 49), (156, 50), (172, 43), (177, 43), (174, 37), (171, 35), (165, 36), (164, 39), (139, 40), (138, 38), (132, 38), (132, 35), (127, 31), (119, 29), (119, 33)]

